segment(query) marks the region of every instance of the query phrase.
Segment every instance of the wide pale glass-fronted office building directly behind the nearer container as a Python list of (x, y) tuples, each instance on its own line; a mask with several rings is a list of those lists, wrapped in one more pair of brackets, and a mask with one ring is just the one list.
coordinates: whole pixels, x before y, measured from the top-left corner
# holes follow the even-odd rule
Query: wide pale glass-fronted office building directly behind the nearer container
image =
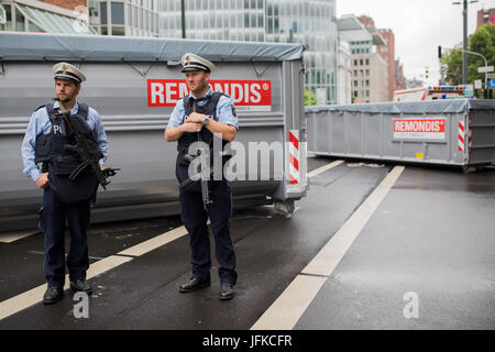
[[(186, 37), (306, 45), (306, 88), (337, 102), (336, 0), (185, 0)], [(161, 36), (182, 37), (180, 0), (162, 0)]]

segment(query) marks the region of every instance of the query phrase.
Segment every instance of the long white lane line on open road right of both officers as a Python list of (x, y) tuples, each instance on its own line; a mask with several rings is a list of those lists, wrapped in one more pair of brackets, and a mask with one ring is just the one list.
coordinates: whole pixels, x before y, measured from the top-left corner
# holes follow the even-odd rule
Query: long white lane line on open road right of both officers
[(396, 166), (385, 177), (251, 330), (294, 329), (404, 169)]

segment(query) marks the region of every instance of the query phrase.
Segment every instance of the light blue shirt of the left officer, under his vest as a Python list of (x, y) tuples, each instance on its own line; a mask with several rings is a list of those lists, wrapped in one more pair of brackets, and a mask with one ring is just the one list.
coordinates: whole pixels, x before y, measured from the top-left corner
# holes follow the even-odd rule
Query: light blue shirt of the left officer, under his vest
[[(58, 101), (55, 101), (54, 109), (58, 109)], [(103, 165), (108, 156), (108, 140), (105, 133), (103, 124), (101, 123), (101, 117), (98, 112), (89, 108), (88, 109), (88, 124), (91, 131), (96, 132), (97, 146), (103, 153), (103, 158), (100, 160), (100, 164)], [(79, 111), (79, 103), (75, 103), (70, 110), (72, 114), (76, 114)], [(31, 116), (28, 130), (25, 131), (24, 140), (22, 141), (22, 162), (24, 163), (24, 175), (31, 177), (34, 182), (41, 176), (38, 166), (34, 163), (34, 147), (36, 145), (36, 136), (40, 134), (48, 134), (52, 130), (52, 122), (50, 121), (48, 111), (46, 108), (41, 108), (34, 111)]]

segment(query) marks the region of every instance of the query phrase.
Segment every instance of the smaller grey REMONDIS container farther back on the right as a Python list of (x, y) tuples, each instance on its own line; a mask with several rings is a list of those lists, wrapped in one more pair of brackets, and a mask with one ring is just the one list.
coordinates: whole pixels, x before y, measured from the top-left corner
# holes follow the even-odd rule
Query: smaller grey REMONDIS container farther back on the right
[(306, 108), (308, 153), (481, 167), (495, 163), (495, 100)]

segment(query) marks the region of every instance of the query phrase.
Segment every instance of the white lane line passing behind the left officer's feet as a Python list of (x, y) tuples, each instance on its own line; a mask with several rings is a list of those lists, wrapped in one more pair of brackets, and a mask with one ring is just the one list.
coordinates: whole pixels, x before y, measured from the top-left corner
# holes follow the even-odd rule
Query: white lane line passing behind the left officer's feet
[[(208, 224), (210, 221), (208, 221)], [(185, 227), (180, 227), (163, 234), (160, 234), (151, 240), (139, 243), (132, 248), (129, 248), (122, 252), (117, 253), (116, 255), (108, 256), (101, 261), (95, 262), (89, 266), (88, 272), (86, 273), (86, 278), (90, 279), (95, 276), (101, 275), (110, 270), (113, 270), (122, 264), (131, 262), (134, 257), (146, 254), (162, 245), (170, 243), (178, 238), (182, 238), (187, 234), (187, 230)], [(65, 286), (64, 289), (69, 288), (69, 279), (68, 274), (65, 277)], [(16, 295), (12, 298), (3, 300), (0, 302), (0, 320), (14, 315), (23, 309), (26, 309), (35, 304), (38, 304), (43, 299), (43, 295), (46, 290), (46, 284), (37, 286), (33, 289), (30, 289), (23, 294)]]

